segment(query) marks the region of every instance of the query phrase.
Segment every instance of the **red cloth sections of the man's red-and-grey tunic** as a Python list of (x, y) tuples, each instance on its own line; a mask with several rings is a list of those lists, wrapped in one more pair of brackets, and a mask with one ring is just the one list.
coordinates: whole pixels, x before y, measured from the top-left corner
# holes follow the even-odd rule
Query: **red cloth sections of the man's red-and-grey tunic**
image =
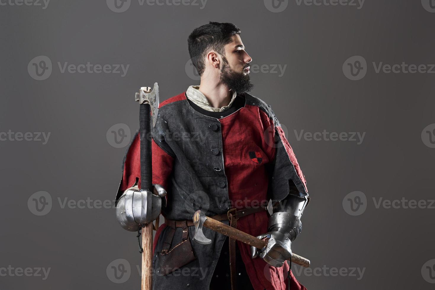
[[(181, 93), (160, 104), (160, 107), (177, 100), (185, 100), (185, 93)], [(265, 164), (275, 158), (275, 147), (270, 146), (270, 140), (274, 140), (276, 127), (288, 158), (294, 165), (298, 177), (301, 179), (306, 190), (305, 176), (298, 165), (293, 150), (279, 126), (275, 126), (274, 120), (258, 106), (246, 104), (245, 107), (231, 115), (219, 119), (221, 122), (224, 173), (228, 178), (228, 196), (232, 202), (231, 207), (258, 207), (260, 203), (267, 203), (267, 191), (269, 177)], [(250, 126), (246, 126), (250, 124)], [(268, 130), (272, 128), (272, 130)], [(244, 140), (254, 138), (254, 143), (259, 146), (247, 148)], [(252, 142), (250, 142), (252, 144)], [(247, 152), (254, 152), (252, 158), (245, 158)], [(261, 158), (261, 159), (259, 159)], [(157, 143), (152, 143), (153, 160), (153, 183), (161, 184), (167, 188), (167, 180), (171, 174), (174, 157), (162, 150)], [(253, 164), (254, 163), (254, 166)], [(124, 163), (123, 182), (121, 190), (125, 190), (134, 184), (135, 178), (140, 174), (140, 140), (138, 136), (131, 144)], [(139, 183), (140, 186), (140, 183)], [(171, 194), (170, 190), (168, 194)], [(161, 231), (166, 225), (163, 224), (157, 230), (154, 239), (154, 249)], [(253, 236), (268, 232), (268, 215), (266, 211), (254, 213), (242, 217), (237, 222), (237, 228)], [(287, 273), (289, 266), (284, 263), (283, 267), (271, 267), (261, 258), (251, 258), (250, 246), (238, 242), (241, 250), (246, 271), (255, 290), (285, 290), (287, 289)], [(291, 272), (290, 272), (291, 273)], [(290, 289), (306, 289), (291, 273)]]

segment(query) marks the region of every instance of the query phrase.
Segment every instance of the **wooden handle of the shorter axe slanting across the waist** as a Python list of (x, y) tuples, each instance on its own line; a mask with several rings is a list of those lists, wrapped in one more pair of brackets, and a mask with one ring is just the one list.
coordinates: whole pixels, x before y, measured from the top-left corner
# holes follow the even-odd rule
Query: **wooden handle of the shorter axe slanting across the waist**
[[(241, 241), (242, 243), (247, 243), (248, 245), (254, 246), (258, 249), (263, 249), (267, 245), (267, 242), (264, 240), (260, 240), (257, 237), (251, 236), (249, 233), (244, 233), (241, 230), (230, 227), (210, 217), (207, 217), (207, 219), (204, 221), (203, 226), (208, 227), (209, 229), (221, 233), (225, 236), (231, 237), (234, 240)], [(305, 268), (310, 267), (310, 260), (296, 255), (295, 253), (291, 255), (291, 263), (298, 264)]]

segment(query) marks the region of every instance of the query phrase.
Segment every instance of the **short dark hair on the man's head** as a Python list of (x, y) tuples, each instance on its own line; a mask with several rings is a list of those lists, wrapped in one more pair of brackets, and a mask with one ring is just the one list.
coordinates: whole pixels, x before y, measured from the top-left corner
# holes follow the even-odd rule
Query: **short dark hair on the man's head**
[(195, 28), (187, 38), (193, 65), (201, 76), (205, 70), (204, 58), (209, 50), (225, 55), (224, 46), (231, 42), (240, 29), (233, 23), (211, 22)]

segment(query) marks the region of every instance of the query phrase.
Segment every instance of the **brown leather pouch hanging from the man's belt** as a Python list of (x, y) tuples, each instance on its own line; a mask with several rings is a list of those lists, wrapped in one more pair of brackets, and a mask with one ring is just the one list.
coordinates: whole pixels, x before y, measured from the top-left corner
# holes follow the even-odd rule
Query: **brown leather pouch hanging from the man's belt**
[(181, 241), (176, 243), (170, 249), (175, 233), (175, 229), (171, 227), (170, 232), (164, 241), (163, 249), (157, 254), (161, 267), (159, 273), (162, 275), (172, 273), (174, 270), (177, 270), (196, 259), (196, 255), (193, 251), (191, 240), (189, 238), (189, 227), (187, 227), (186, 224), (182, 229), (183, 234)]

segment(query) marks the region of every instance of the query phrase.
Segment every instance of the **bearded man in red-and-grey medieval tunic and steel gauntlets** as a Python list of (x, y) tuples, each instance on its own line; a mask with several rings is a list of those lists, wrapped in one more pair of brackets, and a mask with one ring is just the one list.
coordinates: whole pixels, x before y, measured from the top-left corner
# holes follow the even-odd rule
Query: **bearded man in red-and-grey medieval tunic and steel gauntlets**
[[(194, 29), (188, 47), (201, 83), (158, 110), (153, 183), (167, 194), (166, 205), (153, 209), (165, 219), (154, 238), (155, 290), (306, 289), (286, 262), (309, 201), (305, 176), (271, 107), (248, 93), (252, 58), (240, 33), (232, 23)], [(125, 190), (140, 187), (139, 136), (124, 156), (117, 200), (125, 203), (137, 202)], [(207, 228), (210, 244), (191, 241), (196, 210), (268, 244), (257, 250)], [(127, 230), (140, 228), (118, 219)]]

